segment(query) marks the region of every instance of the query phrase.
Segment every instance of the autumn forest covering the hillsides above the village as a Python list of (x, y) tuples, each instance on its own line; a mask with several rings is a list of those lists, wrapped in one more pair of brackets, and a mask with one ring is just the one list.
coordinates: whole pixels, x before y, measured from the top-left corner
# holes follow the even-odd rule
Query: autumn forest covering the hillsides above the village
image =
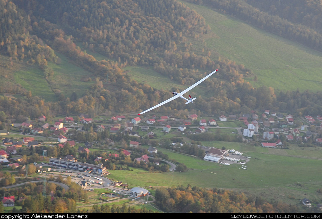
[[(218, 6), (223, 13), (231, 13), (267, 31), (282, 28), (279, 31), (282, 36), (305, 39), (301, 43), (312, 44), (319, 50), (319, 33), (302, 24), (291, 24), (276, 14), (265, 12), (260, 13), (260, 17), (257, 9), (244, 1), (193, 2)], [(138, 83), (122, 70), (135, 65), (151, 66), (159, 74), (183, 85), (194, 83), (213, 69), (220, 69), (220, 74), (204, 82), (211, 97), (198, 98), (198, 105), (202, 107), (197, 110), (204, 114), (248, 113), (252, 109), (309, 115), (322, 113), (321, 92), (280, 92), (268, 86), (252, 87), (244, 78), (254, 74), (243, 65), (225, 58), (211, 60), (209, 56), (190, 51), (188, 36), (206, 35), (209, 27), (202, 16), (175, 0), (128, 1), (127, 4), (99, 0), (82, 1), (81, 4), (77, 1), (3, 0), (0, 14), (5, 24), (1, 26), (0, 52), (10, 57), (12, 65), (17, 61), (37, 65), (46, 81), (51, 83), (55, 75), (48, 63), (59, 64), (60, 58), (55, 54), (59, 52), (95, 78), (95, 83), (83, 96), (68, 97), (55, 89), (57, 101), (46, 103), (19, 84), (1, 86), (1, 93), (21, 95), (17, 100), (0, 97), (0, 110), (12, 119), (33, 119), (42, 114), (52, 118), (56, 114), (84, 112), (98, 115), (106, 110), (135, 112), (167, 99), (168, 91)], [(289, 26), (300, 32), (293, 33)], [(76, 43), (107, 58), (97, 60)], [(155, 112), (169, 113), (185, 108), (181, 102), (171, 102)]]

